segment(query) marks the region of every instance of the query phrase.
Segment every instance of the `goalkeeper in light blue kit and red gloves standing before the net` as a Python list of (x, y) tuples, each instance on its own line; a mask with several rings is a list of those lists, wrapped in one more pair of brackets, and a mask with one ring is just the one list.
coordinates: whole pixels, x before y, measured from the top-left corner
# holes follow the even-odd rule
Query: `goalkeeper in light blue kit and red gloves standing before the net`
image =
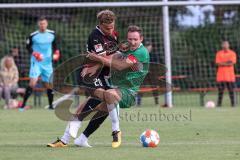
[(47, 96), (49, 101), (49, 109), (53, 109), (53, 90), (50, 80), (53, 73), (52, 61), (58, 61), (60, 52), (56, 45), (55, 32), (47, 29), (48, 21), (41, 17), (38, 20), (39, 29), (30, 34), (27, 39), (27, 49), (31, 54), (31, 64), (29, 72), (29, 86), (23, 99), (20, 111), (24, 110), (26, 102), (30, 97), (33, 88), (36, 86), (39, 77), (41, 77), (44, 86), (47, 88)]

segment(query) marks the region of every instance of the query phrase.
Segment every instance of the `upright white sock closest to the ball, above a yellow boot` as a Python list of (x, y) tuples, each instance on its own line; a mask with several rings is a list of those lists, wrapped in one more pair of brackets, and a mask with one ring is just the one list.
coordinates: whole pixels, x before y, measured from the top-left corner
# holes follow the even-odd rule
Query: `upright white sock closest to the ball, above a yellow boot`
[(107, 104), (107, 108), (112, 121), (112, 131), (120, 131), (118, 112), (115, 104)]

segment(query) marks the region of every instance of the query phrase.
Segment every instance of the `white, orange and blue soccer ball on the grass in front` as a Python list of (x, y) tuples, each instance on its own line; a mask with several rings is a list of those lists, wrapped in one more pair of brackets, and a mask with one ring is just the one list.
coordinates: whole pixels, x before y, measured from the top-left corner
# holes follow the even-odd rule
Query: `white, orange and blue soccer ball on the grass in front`
[(158, 133), (154, 130), (147, 129), (140, 136), (140, 142), (143, 147), (157, 147), (160, 142), (160, 137)]

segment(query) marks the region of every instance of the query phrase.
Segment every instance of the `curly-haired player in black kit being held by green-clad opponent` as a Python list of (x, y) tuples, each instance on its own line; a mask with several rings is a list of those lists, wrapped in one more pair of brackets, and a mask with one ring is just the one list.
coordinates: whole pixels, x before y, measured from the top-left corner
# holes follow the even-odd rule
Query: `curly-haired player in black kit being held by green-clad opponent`
[[(103, 10), (100, 11), (97, 14), (97, 19), (98, 19), (98, 25), (96, 26), (95, 29), (91, 32), (91, 34), (88, 37), (88, 42), (87, 42), (87, 49), (88, 51), (94, 51), (96, 54), (105, 54), (105, 45), (110, 44), (110, 43), (118, 43), (118, 36), (115, 31), (115, 19), (116, 16), (115, 14), (110, 11), (110, 10)], [(92, 64), (87, 64), (89, 66), (92, 66)], [(86, 69), (86, 68), (85, 68)], [(84, 70), (81, 72), (82, 74), (84, 73)], [(87, 89), (87, 91), (92, 92), (94, 89), (97, 88), (103, 88), (103, 89), (108, 89), (107, 81), (105, 79), (105, 76), (109, 75), (109, 67), (104, 67), (99, 76), (93, 80), (92, 84), (86, 84), (87, 88), (91, 88), (90, 90)], [(81, 79), (81, 76), (79, 75), (78, 77), (78, 82), (79, 83), (84, 83), (84, 81)], [(100, 104), (101, 101), (95, 98), (92, 98), (91, 96), (84, 102), (82, 105), (83, 110), (89, 109), (89, 106), (91, 107), (96, 107), (98, 104)], [(80, 107), (81, 108), (81, 107)], [(78, 111), (77, 111), (78, 112)], [(100, 112), (100, 111), (99, 111)], [(113, 112), (113, 113), (111, 113)], [(114, 118), (116, 117), (116, 112), (115, 110), (109, 112), (110, 113), (110, 118), (112, 120), (112, 125), (113, 123), (119, 123), (118, 121), (114, 121), (112, 118), (111, 114), (114, 114)], [(100, 115), (101, 114), (101, 115)], [(78, 117), (80, 121), (70, 121), (67, 124), (67, 127), (65, 129), (65, 132), (63, 136), (60, 139), (57, 139), (57, 141), (53, 143), (49, 143), (47, 146), (48, 147), (65, 147), (67, 144), (70, 142), (71, 137), (76, 138), (74, 143), (77, 146), (81, 147), (91, 147), (88, 144), (88, 137), (95, 132), (99, 126), (103, 123), (103, 121), (107, 118), (108, 113), (105, 112), (105, 114), (102, 113), (96, 113), (93, 118), (90, 120), (87, 128), (83, 131), (83, 133), (76, 138), (77, 136), (77, 131), (81, 126), (81, 117)], [(73, 127), (71, 127), (73, 126)], [(114, 124), (114, 126), (119, 126), (119, 124)], [(74, 130), (71, 130), (70, 128), (74, 128)], [(119, 127), (118, 127), (119, 128)], [(113, 131), (115, 129), (113, 128)], [(113, 143), (119, 143), (121, 144), (121, 132), (120, 130), (117, 132), (112, 133), (113, 136)]]

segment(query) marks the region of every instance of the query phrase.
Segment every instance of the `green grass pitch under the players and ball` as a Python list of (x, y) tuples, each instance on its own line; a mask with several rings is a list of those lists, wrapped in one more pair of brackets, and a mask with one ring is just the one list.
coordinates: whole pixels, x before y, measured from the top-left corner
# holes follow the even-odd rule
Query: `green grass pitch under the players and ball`
[[(93, 148), (79, 148), (71, 141), (69, 147), (56, 149), (47, 148), (46, 144), (62, 135), (66, 122), (57, 119), (54, 111), (35, 108), (19, 113), (1, 109), (0, 159), (240, 159), (240, 107), (176, 106), (159, 110), (152, 98), (143, 102), (142, 107), (120, 111), (123, 143), (118, 149), (111, 148), (109, 119), (91, 136), (89, 143)], [(159, 133), (161, 142), (157, 148), (141, 147), (139, 136), (147, 128)]]

